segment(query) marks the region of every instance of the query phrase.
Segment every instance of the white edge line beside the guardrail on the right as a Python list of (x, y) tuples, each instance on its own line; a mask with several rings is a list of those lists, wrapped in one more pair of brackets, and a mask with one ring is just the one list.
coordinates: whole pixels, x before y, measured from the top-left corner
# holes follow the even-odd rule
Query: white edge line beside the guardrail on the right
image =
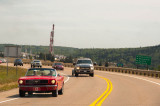
[(130, 78), (135, 78), (135, 79), (144, 80), (144, 81), (147, 81), (147, 82), (150, 82), (150, 83), (156, 84), (156, 85), (160, 85), (160, 83), (158, 83), (158, 82), (154, 82), (154, 81), (147, 80), (147, 79), (140, 78), (140, 77), (129, 76), (129, 75), (124, 75), (124, 74), (117, 74), (117, 73), (111, 73), (111, 72), (103, 72), (103, 71), (99, 71), (99, 72), (102, 72), (102, 73), (108, 73), (108, 74), (115, 74), (115, 75), (121, 75), (121, 76), (126, 76), (126, 77), (130, 77)]

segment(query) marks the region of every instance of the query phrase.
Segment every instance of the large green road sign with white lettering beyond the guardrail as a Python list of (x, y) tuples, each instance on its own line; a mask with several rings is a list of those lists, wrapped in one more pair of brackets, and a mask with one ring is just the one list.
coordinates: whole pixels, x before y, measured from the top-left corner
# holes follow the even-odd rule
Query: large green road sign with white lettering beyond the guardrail
[(136, 56), (136, 64), (151, 65), (151, 57), (150, 56), (137, 55)]

